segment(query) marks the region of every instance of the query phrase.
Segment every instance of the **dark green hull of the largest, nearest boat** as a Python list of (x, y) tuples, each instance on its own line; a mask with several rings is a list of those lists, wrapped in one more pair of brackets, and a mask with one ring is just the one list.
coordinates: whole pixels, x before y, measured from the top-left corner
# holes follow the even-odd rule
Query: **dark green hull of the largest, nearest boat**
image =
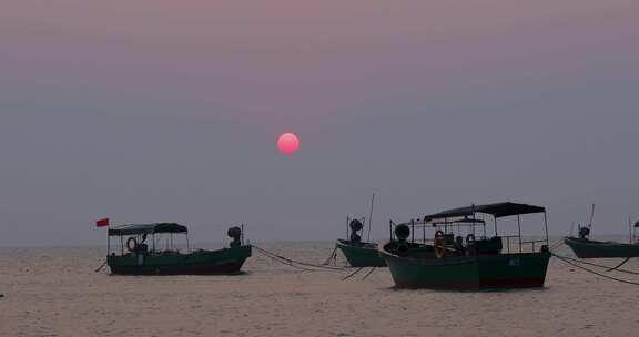
[(550, 253), (426, 259), (381, 249), (400, 288), (490, 289), (544, 287)]

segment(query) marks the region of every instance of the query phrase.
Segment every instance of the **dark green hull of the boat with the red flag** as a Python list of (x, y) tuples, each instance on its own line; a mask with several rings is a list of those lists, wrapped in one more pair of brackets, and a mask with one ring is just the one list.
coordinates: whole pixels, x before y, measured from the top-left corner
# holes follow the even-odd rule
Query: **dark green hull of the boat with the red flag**
[(114, 275), (223, 275), (239, 273), (251, 253), (251, 246), (190, 254), (131, 253), (108, 256), (106, 262)]

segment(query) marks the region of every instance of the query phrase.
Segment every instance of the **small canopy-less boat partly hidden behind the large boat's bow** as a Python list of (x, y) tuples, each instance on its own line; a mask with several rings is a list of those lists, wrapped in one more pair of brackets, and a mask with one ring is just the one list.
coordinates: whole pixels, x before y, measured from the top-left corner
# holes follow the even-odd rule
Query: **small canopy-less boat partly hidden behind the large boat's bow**
[(358, 234), (364, 229), (362, 221), (348, 219), (347, 224), (349, 239), (338, 239), (336, 247), (344, 254), (348, 265), (356, 268), (385, 267), (386, 262), (377, 253), (377, 244), (362, 242), (362, 236)]

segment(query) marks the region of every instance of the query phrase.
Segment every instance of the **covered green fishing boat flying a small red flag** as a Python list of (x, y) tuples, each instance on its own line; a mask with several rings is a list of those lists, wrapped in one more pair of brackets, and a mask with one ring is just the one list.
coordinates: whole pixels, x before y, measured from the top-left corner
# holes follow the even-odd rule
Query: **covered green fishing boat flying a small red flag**
[[(132, 224), (109, 228), (106, 264), (114, 275), (235, 274), (251, 256), (252, 247), (244, 244), (242, 227), (231, 227), (227, 234), (233, 238), (229, 247), (191, 251), (187, 228), (176, 223)], [(186, 252), (175, 248), (175, 235), (184, 236)], [(120, 254), (111, 252), (112, 237), (120, 237)], [(149, 237), (150, 244), (146, 243)], [(160, 247), (162, 239), (165, 239), (164, 248)]]

